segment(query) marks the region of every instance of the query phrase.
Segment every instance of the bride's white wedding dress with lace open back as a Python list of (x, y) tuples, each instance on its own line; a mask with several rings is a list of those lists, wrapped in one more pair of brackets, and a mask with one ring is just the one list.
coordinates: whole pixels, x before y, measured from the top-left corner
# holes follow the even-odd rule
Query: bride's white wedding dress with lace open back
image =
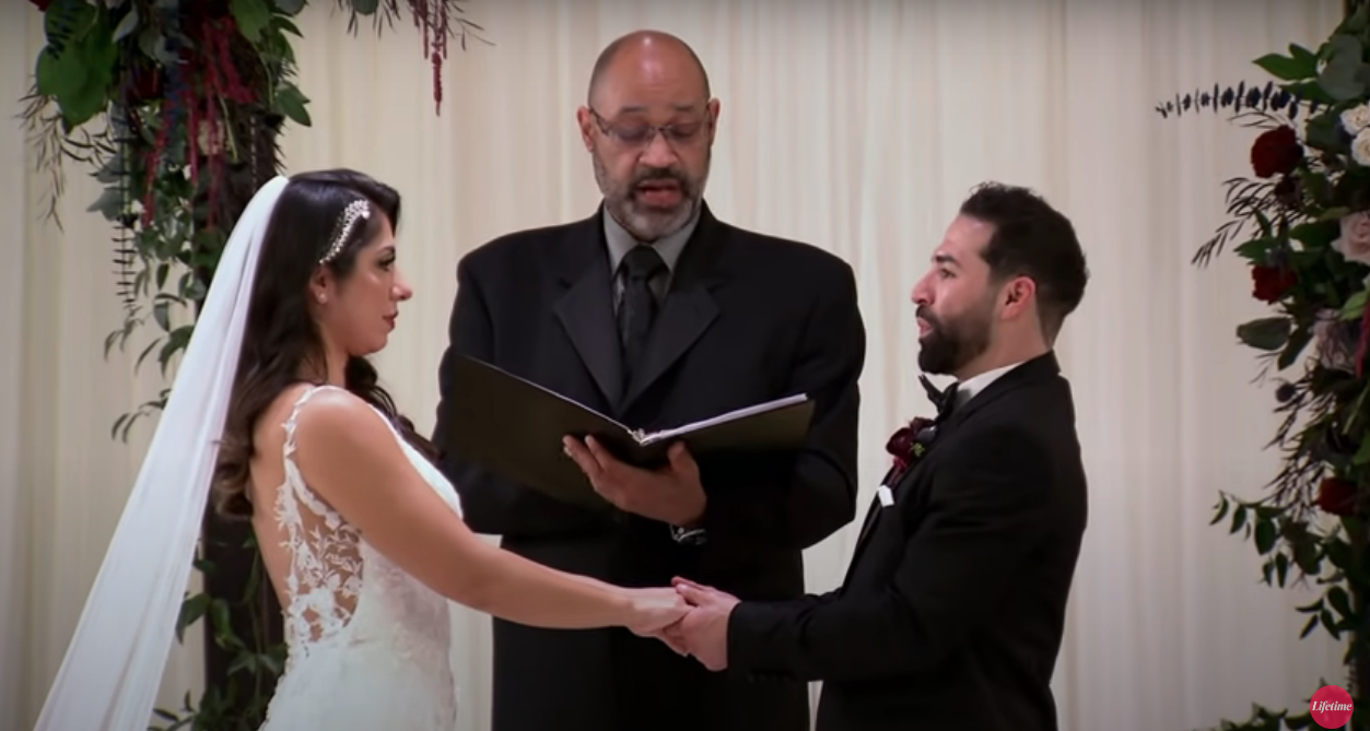
[[(367, 545), (310, 490), (295, 463), (300, 409), (329, 387), (336, 386), (306, 390), (285, 422), (277, 534), (258, 537), (263, 553), (284, 550), (289, 565), (282, 602), (289, 658), (262, 731), (452, 731), (448, 600)], [(393, 426), (390, 433), (460, 515), (447, 478)]]

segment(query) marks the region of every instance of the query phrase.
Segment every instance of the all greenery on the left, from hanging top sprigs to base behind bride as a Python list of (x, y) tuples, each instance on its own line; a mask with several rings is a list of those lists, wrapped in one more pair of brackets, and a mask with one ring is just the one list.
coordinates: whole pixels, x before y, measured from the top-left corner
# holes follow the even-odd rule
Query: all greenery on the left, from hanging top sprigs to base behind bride
[[(449, 37), (481, 27), (460, 16), (463, 0), (404, 0), (425, 30), (418, 68), (434, 74)], [(25, 120), (51, 175), (48, 215), (60, 226), (63, 163), (74, 160), (104, 186), (88, 208), (116, 231), (114, 263), (123, 323), (105, 338), (105, 355), (134, 335), (136, 367), (155, 360), (166, 376), (189, 345), (195, 316), (214, 278), (237, 216), (263, 178), (278, 170), (277, 136), (286, 122), (310, 126), (310, 100), (293, 84), (293, 18), (307, 0), (52, 0), (44, 10), (45, 45), (25, 97)], [(403, 15), (401, 0), (337, 0), (377, 27)], [(103, 122), (104, 125), (92, 125)], [(92, 131), (95, 127), (96, 131)], [(114, 423), (127, 439), (144, 418), (166, 405), (169, 389)], [(177, 626), (182, 638), (207, 621), (212, 641), (233, 657), (222, 686), (179, 712), (158, 709), (166, 726), (255, 731), (266, 713), (285, 647), (266, 642), (269, 621), (256, 546), (242, 546), (253, 574), (238, 597), (186, 597)], [(197, 568), (212, 576), (215, 567)], [(234, 617), (249, 617), (247, 637)]]

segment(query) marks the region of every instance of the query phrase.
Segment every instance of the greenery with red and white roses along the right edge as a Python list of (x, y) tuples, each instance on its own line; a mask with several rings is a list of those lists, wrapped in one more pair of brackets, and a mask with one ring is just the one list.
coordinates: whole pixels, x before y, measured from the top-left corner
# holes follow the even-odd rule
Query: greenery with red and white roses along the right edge
[[(1262, 131), (1254, 177), (1226, 181), (1229, 220), (1195, 255), (1206, 264), (1225, 245), (1251, 267), (1254, 294), (1274, 313), (1237, 327), (1265, 374), (1281, 376), (1270, 446), (1284, 463), (1259, 500), (1219, 493), (1212, 523), (1251, 541), (1262, 580), (1311, 586), (1302, 635), (1328, 632), (1345, 646), (1352, 701), (1370, 708), (1370, 378), (1360, 359), (1370, 266), (1343, 253), (1344, 231), (1370, 235), (1370, 5), (1356, 4), (1311, 51), (1289, 45), (1255, 64), (1275, 81), (1177, 96), (1162, 116), (1228, 111)], [(1358, 227), (1362, 233), (1358, 234)], [(1243, 241), (1244, 240), (1244, 241)], [(1344, 684), (1347, 680), (1340, 680)], [(1326, 684), (1310, 682), (1310, 691)], [(1363, 715), (1352, 720), (1365, 731)], [(1312, 728), (1311, 719), (1254, 706), (1233, 731)]]

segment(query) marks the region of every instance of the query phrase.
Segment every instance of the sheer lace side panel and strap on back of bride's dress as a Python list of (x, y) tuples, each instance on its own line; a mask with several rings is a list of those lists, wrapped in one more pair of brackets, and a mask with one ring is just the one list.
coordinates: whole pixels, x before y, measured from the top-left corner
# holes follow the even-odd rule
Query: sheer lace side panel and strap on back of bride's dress
[(342, 631), (362, 593), (360, 534), (310, 490), (295, 463), (300, 408), (323, 387), (304, 392), (285, 422), (285, 483), (275, 494), (281, 546), (290, 557), (285, 634), (292, 660), (296, 653), (308, 654), (311, 643)]

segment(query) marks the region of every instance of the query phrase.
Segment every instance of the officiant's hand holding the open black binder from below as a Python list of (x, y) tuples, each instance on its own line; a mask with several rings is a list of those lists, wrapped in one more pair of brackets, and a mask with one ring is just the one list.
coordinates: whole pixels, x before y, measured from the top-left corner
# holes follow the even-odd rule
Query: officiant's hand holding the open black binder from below
[(593, 437), (584, 442), (566, 437), (562, 445), (590, 479), (595, 491), (621, 511), (681, 527), (693, 526), (704, 515), (699, 465), (684, 444), (671, 445), (666, 452), (670, 464), (655, 471), (614, 459)]

